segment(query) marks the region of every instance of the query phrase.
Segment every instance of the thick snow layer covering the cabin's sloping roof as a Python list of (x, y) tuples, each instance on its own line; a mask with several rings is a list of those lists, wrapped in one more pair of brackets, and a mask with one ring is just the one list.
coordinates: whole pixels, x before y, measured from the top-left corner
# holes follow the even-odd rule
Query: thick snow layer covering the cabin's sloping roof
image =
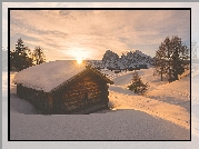
[(14, 81), (28, 88), (49, 92), (84, 69), (84, 64), (71, 60), (50, 61), (20, 71), (16, 74)]

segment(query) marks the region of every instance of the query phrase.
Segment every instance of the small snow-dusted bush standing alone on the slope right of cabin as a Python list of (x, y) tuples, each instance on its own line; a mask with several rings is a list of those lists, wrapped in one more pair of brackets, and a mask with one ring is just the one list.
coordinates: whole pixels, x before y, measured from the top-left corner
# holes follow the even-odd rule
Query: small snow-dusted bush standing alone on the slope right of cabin
[(131, 83), (128, 86), (129, 90), (135, 91), (135, 93), (143, 95), (148, 88), (148, 83), (143, 83), (141, 78), (138, 76), (137, 71), (132, 73)]

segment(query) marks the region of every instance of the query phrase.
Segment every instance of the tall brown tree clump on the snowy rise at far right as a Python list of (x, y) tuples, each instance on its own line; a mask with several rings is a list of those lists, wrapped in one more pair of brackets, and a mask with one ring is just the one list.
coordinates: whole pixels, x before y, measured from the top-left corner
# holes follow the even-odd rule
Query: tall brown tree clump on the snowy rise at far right
[(163, 74), (168, 81), (178, 80), (178, 74), (185, 71), (185, 63), (188, 60), (188, 47), (181, 42), (178, 37), (168, 37), (161, 42), (159, 50), (155, 57), (155, 74), (160, 76), (161, 81)]

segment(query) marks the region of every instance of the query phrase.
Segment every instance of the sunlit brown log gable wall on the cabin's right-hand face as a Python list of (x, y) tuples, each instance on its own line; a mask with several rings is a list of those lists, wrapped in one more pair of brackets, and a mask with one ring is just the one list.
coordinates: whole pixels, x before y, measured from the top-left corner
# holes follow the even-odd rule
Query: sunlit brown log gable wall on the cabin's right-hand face
[(58, 113), (73, 113), (98, 105), (108, 108), (108, 86), (94, 73), (89, 73), (62, 87), (53, 93), (53, 100)]

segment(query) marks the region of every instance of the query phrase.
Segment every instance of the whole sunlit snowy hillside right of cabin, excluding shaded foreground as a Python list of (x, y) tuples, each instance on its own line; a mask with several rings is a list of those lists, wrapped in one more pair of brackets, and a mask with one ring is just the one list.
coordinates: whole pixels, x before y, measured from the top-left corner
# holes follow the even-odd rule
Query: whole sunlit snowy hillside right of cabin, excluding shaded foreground
[(138, 70), (143, 82), (150, 88), (147, 97), (137, 96), (127, 89), (132, 72), (127, 72), (113, 79), (110, 86), (109, 100), (115, 109), (137, 109), (151, 116), (169, 120), (183, 128), (190, 128), (190, 78), (168, 83), (160, 82), (159, 77), (152, 77), (152, 69)]

